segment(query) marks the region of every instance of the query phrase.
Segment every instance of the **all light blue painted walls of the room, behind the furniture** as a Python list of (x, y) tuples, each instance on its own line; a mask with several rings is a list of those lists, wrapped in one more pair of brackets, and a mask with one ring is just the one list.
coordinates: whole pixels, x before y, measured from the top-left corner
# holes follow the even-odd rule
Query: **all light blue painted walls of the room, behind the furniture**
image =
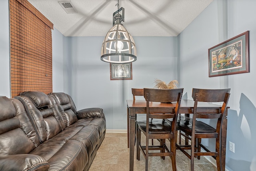
[[(9, 7), (8, 0), (1, 2), (0, 95), (10, 97)], [(126, 129), (125, 100), (132, 99), (132, 87), (153, 87), (155, 78), (177, 79), (189, 99), (192, 87), (230, 87), (227, 149), (232, 141), (235, 153), (226, 151), (226, 168), (256, 170), (255, 7), (255, 0), (214, 0), (178, 37), (134, 37), (138, 60), (132, 64), (133, 80), (125, 81), (110, 81), (109, 64), (100, 60), (103, 37), (70, 38), (54, 29), (53, 91), (72, 95), (78, 109), (102, 107), (108, 129)], [(209, 78), (208, 48), (246, 30), (250, 73)]]

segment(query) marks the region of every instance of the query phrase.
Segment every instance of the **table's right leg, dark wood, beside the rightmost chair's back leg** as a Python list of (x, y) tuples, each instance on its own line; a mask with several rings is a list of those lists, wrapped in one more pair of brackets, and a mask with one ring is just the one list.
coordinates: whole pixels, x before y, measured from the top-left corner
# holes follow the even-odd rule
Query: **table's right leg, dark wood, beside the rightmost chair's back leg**
[(225, 170), (226, 165), (226, 139), (227, 139), (227, 123), (228, 123), (228, 109), (226, 109), (223, 121), (222, 121), (222, 130), (221, 130), (221, 165), (222, 170)]

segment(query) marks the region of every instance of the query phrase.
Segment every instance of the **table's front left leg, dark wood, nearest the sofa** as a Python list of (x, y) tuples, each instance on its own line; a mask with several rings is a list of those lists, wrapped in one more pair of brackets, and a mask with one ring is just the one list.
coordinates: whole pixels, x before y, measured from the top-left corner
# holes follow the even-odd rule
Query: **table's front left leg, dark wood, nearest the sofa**
[(135, 115), (135, 111), (130, 109), (130, 171), (133, 171), (134, 166)]

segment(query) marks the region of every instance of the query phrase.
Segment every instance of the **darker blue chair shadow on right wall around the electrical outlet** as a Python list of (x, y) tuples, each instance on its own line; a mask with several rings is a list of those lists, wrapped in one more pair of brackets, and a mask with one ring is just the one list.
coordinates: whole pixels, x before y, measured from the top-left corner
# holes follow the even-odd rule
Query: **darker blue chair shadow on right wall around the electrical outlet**
[[(255, 171), (256, 170), (256, 107), (244, 95), (240, 97), (240, 112), (229, 110), (228, 133), (229, 141), (235, 143), (235, 153), (226, 151), (226, 166), (233, 171)], [(242, 160), (241, 160), (242, 159)]]

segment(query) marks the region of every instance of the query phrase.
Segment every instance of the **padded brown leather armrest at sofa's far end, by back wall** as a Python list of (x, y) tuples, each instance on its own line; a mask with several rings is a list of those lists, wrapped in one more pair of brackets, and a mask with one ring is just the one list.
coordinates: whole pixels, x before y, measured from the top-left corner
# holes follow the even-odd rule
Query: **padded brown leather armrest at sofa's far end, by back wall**
[(78, 119), (84, 119), (84, 118), (92, 118), (92, 117), (103, 117), (105, 118), (105, 115), (103, 113), (103, 109), (101, 108), (87, 108), (82, 109), (76, 112)]

